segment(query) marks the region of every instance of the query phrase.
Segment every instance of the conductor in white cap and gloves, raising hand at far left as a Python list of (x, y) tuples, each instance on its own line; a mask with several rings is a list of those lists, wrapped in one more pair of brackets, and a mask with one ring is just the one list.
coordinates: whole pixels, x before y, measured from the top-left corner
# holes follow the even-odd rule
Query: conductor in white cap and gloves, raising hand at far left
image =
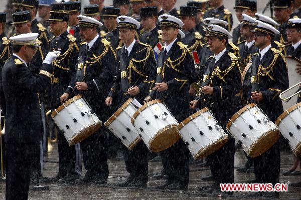
[[(52, 60), (50, 52), (42, 64), (39, 76), (34, 76), (28, 64), (35, 54), (38, 34), (22, 34), (11, 37), (13, 56), (2, 69), (3, 91), (6, 102), (6, 199), (28, 199), (31, 158), (40, 146), (41, 118), (37, 93), (50, 83)], [(58, 52), (57, 52), (58, 53)], [(22, 100), (22, 103), (20, 103)]]

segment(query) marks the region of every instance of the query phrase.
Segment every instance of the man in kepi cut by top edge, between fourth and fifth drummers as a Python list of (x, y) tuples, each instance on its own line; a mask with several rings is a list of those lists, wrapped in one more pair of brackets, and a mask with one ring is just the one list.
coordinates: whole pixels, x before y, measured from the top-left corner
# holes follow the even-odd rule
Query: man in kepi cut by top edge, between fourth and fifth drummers
[[(235, 13), (238, 21), (241, 23), (242, 14), (246, 14), (250, 17), (255, 17), (255, 13), (257, 11), (257, 1), (255, 0), (236, 0), (235, 1)], [(240, 36), (240, 26), (238, 25), (233, 29), (232, 33), (232, 42), (234, 45), (238, 45), (238, 43), (242, 42), (244, 38)]]

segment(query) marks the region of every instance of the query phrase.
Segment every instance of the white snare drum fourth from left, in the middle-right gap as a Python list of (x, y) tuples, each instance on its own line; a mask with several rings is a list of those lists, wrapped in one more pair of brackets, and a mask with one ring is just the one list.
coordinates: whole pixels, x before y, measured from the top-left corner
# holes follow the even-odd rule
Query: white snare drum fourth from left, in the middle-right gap
[(210, 155), (228, 141), (228, 135), (208, 108), (189, 116), (177, 129), (195, 159)]

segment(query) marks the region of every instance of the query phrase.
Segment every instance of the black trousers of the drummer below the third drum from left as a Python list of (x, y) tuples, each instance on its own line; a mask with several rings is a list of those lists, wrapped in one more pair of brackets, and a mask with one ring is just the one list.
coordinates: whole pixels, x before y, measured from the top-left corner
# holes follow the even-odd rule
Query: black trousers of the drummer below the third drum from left
[(161, 151), (162, 164), (168, 174), (168, 182), (179, 182), (188, 185), (189, 182), (189, 149), (180, 139), (170, 148)]

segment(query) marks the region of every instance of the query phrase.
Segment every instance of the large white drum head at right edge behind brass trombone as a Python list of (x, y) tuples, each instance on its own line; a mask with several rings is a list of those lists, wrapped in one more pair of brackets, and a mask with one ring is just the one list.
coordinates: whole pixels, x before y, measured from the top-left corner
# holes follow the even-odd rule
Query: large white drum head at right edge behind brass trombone
[[(301, 60), (291, 57), (291, 56), (284, 56), (287, 64), (287, 73), (288, 73), (288, 80), (289, 80), (289, 87), (297, 84), (301, 80), (301, 75), (296, 73), (295, 68), (298, 63), (301, 63)], [(285, 93), (286, 96), (290, 96), (295, 93), (299, 88), (290, 90)], [(283, 109), (286, 110), (289, 107), (293, 106), (297, 101), (297, 95), (292, 97), (288, 102), (282, 101)]]

